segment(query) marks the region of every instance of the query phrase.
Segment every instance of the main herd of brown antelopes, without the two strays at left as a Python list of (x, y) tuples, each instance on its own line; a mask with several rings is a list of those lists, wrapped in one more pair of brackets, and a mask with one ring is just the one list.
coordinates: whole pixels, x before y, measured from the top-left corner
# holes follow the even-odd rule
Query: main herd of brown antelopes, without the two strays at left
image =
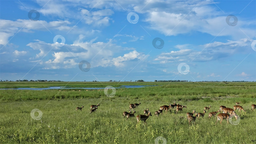
[[(216, 114), (218, 112), (221, 112), (220, 114), (217, 115), (217, 121), (220, 121), (220, 123), (222, 122), (223, 119), (227, 119), (227, 123), (229, 123), (229, 118), (235, 116), (235, 118), (237, 119), (238, 118), (238, 115), (235, 113), (235, 110), (239, 110), (238, 112), (240, 112), (240, 115), (241, 115), (241, 110), (246, 112), (242, 106), (240, 106), (241, 102), (237, 102), (235, 103), (236, 105), (233, 106), (234, 109), (231, 109), (231, 108), (227, 108), (226, 106), (220, 106), (220, 109), (217, 110), (217, 111), (213, 111), (213, 112), (210, 112), (209, 115), (208, 115), (208, 118), (210, 119), (212, 116), (215, 117)], [(138, 107), (141, 103), (139, 102), (139, 104), (130, 104), (129, 105), (129, 112), (123, 112), (123, 116), (124, 117), (127, 117), (126, 120), (129, 118), (129, 117), (134, 117), (134, 113), (135, 113), (135, 110), (134, 108)], [(174, 109), (174, 107), (176, 107), (176, 109)], [(169, 105), (163, 105), (163, 106), (160, 106), (159, 110), (158, 111), (155, 111), (155, 115), (158, 117), (160, 114), (163, 114), (163, 112), (165, 111), (165, 113), (167, 114), (167, 111), (170, 111), (170, 108), (174, 109), (175, 114), (177, 114), (178, 111), (182, 111), (183, 108), (187, 108), (186, 105), (179, 105), (179, 103), (175, 103), (174, 104), (169, 104)], [(196, 124), (195, 120), (196, 120), (196, 117), (202, 117), (202, 119), (204, 119), (204, 114), (207, 113), (209, 111), (209, 109), (211, 108), (211, 106), (209, 105), (209, 107), (204, 107), (204, 110), (203, 110), (203, 113), (198, 113), (196, 112), (195, 110), (192, 111), (192, 113), (190, 112), (187, 112), (186, 113), (186, 116), (187, 116), (187, 119), (188, 119), (188, 123), (189, 125), (191, 125), (191, 122)], [(131, 109), (133, 110), (133, 113), (131, 113)], [(252, 105), (252, 109), (253, 111), (255, 111), (256, 109), (256, 105)], [(228, 114), (229, 113), (229, 114)], [(195, 114), (195, 116), (193, 116)], [(143, 121), (143, 124), (146, 123), (146, 120), (149, 118), (149, 116), (152, 116), (151, 115), (151, 112), (149, 111), (149, 108), (147, 108), (146, 110), (144, 110), (144, 115), (137, 115), (136, 119), (137, 119), (137, 123), (139, 123), (139, 121)], [(198, 119), (197, 118), (197, 119)], [(215, 124), (216, 124), (215, 123)]]

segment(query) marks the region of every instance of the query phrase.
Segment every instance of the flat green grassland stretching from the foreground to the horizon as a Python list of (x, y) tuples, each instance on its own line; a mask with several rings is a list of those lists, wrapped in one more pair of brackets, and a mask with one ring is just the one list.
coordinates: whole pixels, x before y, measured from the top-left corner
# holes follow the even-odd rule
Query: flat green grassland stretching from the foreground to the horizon
[[(256, 143), (256, 111), (251, 111), (255, 82), (0, 82), (0, 88), (108, 85), (158, 86), (117, 88), (113, 97), (103, 89), (0, 90), (0, 143)], [(160, 106), (174, 101), (187, 108), (154, 116)], [(240, 117), (233, 117), (233, 124), (224, 119), (215, 125), (216, 117), (207, 119), (219, 106), (233, 108), (239, 101), (246, 112), (235, 110)], [(122, 116), (129, 104), (139, 102), (135, 116), (146, 108), (152, 112), (144, 125)], [(89, 114), (90, 105), (97, 103), (98, 110)], [(81, 105), (82, 111), (76, 111)], [(204, 119), (189, 126), (186, 113), (203, 113), (209, 105)], [(39, 110), (33, 115), (33, 109)]]

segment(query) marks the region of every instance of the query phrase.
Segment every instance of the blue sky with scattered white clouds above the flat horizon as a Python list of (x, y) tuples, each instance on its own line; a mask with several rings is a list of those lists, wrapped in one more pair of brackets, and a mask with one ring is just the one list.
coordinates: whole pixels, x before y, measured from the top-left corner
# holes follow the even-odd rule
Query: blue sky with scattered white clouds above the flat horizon
[(1, 0), (0, 8), (3, 81), (256, 81), (255, 0)]

